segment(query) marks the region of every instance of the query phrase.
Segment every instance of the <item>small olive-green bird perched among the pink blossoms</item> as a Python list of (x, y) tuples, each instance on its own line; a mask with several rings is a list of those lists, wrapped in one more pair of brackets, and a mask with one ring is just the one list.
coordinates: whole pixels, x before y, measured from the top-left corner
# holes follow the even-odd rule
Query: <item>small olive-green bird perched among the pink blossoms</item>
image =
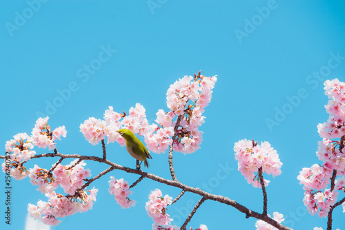
[(130, 131), (130, 129), (119, 129), (117, 132), (126, 140), (126, 149), (130, 156), (137, 160), (144, 161), (148, 167), (148, 159), (152, 159), (150, 152), (146, 149), (145, 145)]

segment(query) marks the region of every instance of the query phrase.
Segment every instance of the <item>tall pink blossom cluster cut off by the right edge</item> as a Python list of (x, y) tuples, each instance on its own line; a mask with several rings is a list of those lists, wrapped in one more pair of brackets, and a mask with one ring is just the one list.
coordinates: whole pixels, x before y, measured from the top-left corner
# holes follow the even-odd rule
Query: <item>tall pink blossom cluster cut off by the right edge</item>
[[(345, 191), (344, 176), (335, 180), (333, 189), (327, 189), (333, 170), (336, 170), (337, 176), (345, 175), (345, 83), (334, 79), (325, 81), (324, 85), (329, 98), (325, 106), (329, 118), (327, 122), (317, 125), (322, 141), (319, 141), (316, 152), (323, 165), (303, 168), (297, 176), (299, 184), (304, 185), (304, 205), (309, 213), (318, 213), (319, 217), (327, 217), (331, 206), (337, 201), (339, 191)], [(344, 203), (342, 205), (345, 212)]]

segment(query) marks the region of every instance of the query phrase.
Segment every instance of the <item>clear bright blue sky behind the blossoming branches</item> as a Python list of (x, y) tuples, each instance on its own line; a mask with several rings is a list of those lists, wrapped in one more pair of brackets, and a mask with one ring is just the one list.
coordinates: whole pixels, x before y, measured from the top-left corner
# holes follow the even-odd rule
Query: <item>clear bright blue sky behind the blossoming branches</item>
[[(321, 163), (315, 151), (321, 140), (317, 124), (328, 118), (324, 79), (345, 80), (344, 1), (31, 2), (0, 3), (3, 145), (14, 134), (30, 134), (37, 114), (48, 114), (51, 127), (65, 125), (68, 131), (57, 143), (59, 152), (101, 156), (101, 146), (90, 145), (79, 132), (80, 123), (90, 116), (102, 118), (109, 105), (121, 112), (135, 103), (144, 105), (152, 122), (158, 109), (166, 109), (169, 85), (202, 70), (205, 76), (217, 74), (218, 81), (204, 113), (201, 149), (174, 155), (177, 178), (262, 211), (262, 191), (237, 171), (233, 145), (243, 138), (268, 141), (284, 164), (282, 175), (265, 176), (271, 180), (268, 213), (283, 213), (294, 229), (326, 229), (325, 218), (306, 213), (297, 175), (303, 167)], [(323, 75), (317, 78), (317, 72)], [(117, 143), (107, 149), (109, 160), (135, 166)], [(170, 178), (168, 155), (152, 158), (148, 171)], [(27, 167), (50, 168), (56, 160), (35, 159)], [(87, 162), (87, 167), (92, 176), (106, 169), (99, 163)], [(217, 177), (224, 167), (226, 178)], [(130, 183), (137, 179), (112, 171), (93, 182), (99, 189), (93, 209), (63, 218), (52, 229), (150, 229), (152, 220), (144, 209), (150, 190), (179, 194), (179, 189), (144, 179), (132, 189), (137, 205), (121, 209), (108, 193), (110, 176)], [(1, 217), (0, 228), (25, 229), (27, 205), (40, 199), (46, 197), (28, 178), (12, 181), (12, 224)], [(1, 192), (1, 213), (4, 200)], [(186, 194), (169, 207), (173, 223), (181, 225), (197, 200), (199, 196)], [(345, 229), (341, 208), (333, 213), (333, 226)], [(255, 229), (255, 222), (233, 207), (207, 200), (188, 227)]]

